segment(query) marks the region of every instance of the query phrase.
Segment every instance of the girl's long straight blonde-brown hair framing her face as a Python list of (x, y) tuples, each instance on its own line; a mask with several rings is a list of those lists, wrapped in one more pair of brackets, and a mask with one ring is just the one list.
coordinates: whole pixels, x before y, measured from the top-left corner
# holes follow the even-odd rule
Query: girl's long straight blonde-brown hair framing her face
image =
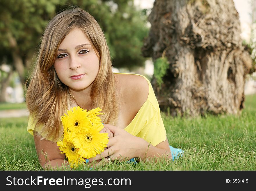
[[(27, 81), (26, 105), (35, 131), (57, 141), (63, 134), (61, 115), (70, 109), (74, 97), (58, 78), (53, 64), (57, 49), (74, 28), (81, 29), (99, 54), (99, 72), (91, 88), (93, 108), (102, 108), (103, 123), (115, 125), (118, 118), (118, 96), (109, 48), (102, 29), (92, 15), (81, 8), (65, 10), (53, 17), (42, 36), (34, 71)], [(39, 128), (40, 127), (40, 128)]]

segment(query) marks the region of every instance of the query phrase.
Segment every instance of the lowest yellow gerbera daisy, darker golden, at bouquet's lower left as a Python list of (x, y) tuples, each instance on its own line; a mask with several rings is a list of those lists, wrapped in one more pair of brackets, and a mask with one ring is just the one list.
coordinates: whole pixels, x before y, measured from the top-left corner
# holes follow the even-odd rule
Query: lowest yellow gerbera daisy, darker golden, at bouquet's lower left
[(85, 159), (78, 154), (79, 149), (70, 142), (69, 136), (65, 136), (62, 141), (57, 142), (57, 145), (62, 151), (61, 153), (65, 153), (71, 168), (76, 168), (78, 165), (85, 162)]

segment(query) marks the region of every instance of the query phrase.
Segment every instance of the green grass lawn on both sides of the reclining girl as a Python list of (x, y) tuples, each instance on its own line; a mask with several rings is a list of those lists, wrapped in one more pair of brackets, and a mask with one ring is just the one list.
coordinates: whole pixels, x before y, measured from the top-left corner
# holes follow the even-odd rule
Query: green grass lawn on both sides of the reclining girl
[[(185, 151), (182, 158), (114, 162), (93, 170), (256, 170), (256, 95), (246, 96), (239, 116), (162, 117), (170, 145)], [(0, 118), (0, 170), (42, 170), (26, 125), (26, 117)]]

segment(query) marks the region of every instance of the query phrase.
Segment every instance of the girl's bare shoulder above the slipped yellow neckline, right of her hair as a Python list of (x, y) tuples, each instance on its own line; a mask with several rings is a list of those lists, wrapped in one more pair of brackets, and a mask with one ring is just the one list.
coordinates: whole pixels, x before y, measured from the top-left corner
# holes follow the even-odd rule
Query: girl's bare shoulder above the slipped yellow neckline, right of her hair
[(132, 99), (139, 105), (147, 100), (149, 83), (145, 77), (136, 74), (115, 74), (115, 78), (125, 99)]

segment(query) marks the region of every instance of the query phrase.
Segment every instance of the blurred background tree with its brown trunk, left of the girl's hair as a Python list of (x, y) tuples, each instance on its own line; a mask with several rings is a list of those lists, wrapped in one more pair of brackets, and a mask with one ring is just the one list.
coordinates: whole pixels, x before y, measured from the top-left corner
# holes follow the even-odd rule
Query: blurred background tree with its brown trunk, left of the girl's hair
[[(15, 70), (24, 85), (31, 66), (35, 48), (47, 21), (55, 13), (55, 1), (2, 0), (0, 6), (0, 61), (3, 60)], [(13, 71), (12, 69), (10, 71)], [(9, 74), (8, 74), (9, 76)], [(1, 80), (1, 101), (4, 101), (3, 87), (8, 81)]]

